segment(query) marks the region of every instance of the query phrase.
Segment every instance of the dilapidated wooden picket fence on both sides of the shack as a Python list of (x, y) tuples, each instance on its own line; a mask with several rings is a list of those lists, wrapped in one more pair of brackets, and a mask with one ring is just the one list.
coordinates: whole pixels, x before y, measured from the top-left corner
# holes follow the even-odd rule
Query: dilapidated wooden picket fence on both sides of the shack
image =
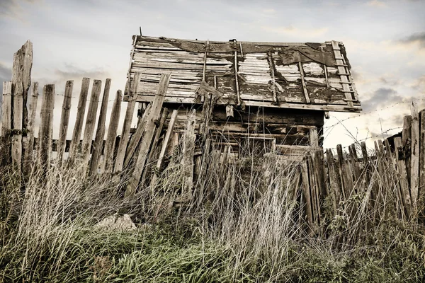
[[(196, 150), (195, 110), (188, 114), (183, 139), (175, 140), (173, 130), (178, 110), (169, 111), (163, 108), (170, 74), (162, 74), (157, 95), (141, 115), (136, 129), (131, 129), (131, 122), (135, 112), (136, 97), (133, 94), (137, 83), (130, 84), (130, 100), (119, 136), (118, 123), (123, 94), (118, 90), (106, 137), (111, 79), (106, 79), (103, 92), (102, 81), (93, 81), (84, 123), (90, 86), (90, 79), (84, 78), (71, 140), (66, 137), (69, 131), (73, 81), (67, 81), (59, 122), (59, 138), (53, 139), (53, 110), (55, 99), (59, 97), (56, 96), (55, 85), (48, 84), (42, 88), (40, 127), (37, 135), (34, 132), (39, 93), (38, 83), (31, 83), (30, 79), (32, 54), (32, 44), (26, 42), (14, 56), (12, 80), (3, 84), (2, 166), (11, 165), (14, 171), (25, 177), (33, 168), (47, 171), (53, 159), (52, 152), (56, 152), (56, 166), (77, 166), (83, 175), (106, 173), (122, 176), (121, 173), (125, 172), (128, 178), (126, 194), (131, 195), (141, 180), (147, 184), (156, 180), (166, 154), (174, 151), (180, 144), (183, 148), (180, 161), (184, 171), (183, 191), (190, 194), (194, 171), (196, 175), (196, 168), (204, 166), (204, 159), (200, 154), (205, 152)], [(141, 74), (136, 73), (133, 81), (140, 81), (140, 76)], [(100, 114), (96, 117), (100, 100)], [(204, 141), (207, 144), (210, 142), (208, 139)], [(210, 146), (203, 146), (203, 149), (210, 149)], [(196, 154), (197, 151), (200, 152)], [(227, 151), (223, 153), (225, 156)], [(375, 141), (374, 152), (375, 154), (370, 154), (364, 142), (348, 146), (346, 152), (339, 145), (336, 156), (330, 149), (323, 151), (317, 145), (312, 145), (306, 151), (307, 154), (296, 166), (301, 172), (300, 200), (305, 207), (305, 220), (310, 227), (318, 226), (324, 221), (326, 207), (331, 207), (336, 213), (341, 206), (347, 205), (361, 194), (369, 195), (371, 205), (379, 205), (387, 187), (397, 188), (394, 204), (399, 219), (416, 219), (421, 216), (424, 212), (425, 195), (425, 111), (418, 112), (412, 103), (412, 115), (404, 117), (402, 134), (385, 141)], [(227, 160), (225, 156), (223, 161)], [(353, 211), (357, 209), (356, 205), (353, 206)]]

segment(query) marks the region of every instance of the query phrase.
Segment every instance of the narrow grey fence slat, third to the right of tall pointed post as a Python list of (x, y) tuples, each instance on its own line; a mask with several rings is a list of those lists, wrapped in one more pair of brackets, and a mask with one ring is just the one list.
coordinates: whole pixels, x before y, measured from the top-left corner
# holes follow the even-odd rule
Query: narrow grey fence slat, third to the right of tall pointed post
[(57, 162), (59, 166), (62, 165), (62, 159), (65, 152), (65, 143), (67, 141), (73, 87), (74, 81), (67, 81), (67, 84), (65, 85), (64, 102), (62, 103), (62, 114), (60, 116), (59, 139), (57, 141)]

